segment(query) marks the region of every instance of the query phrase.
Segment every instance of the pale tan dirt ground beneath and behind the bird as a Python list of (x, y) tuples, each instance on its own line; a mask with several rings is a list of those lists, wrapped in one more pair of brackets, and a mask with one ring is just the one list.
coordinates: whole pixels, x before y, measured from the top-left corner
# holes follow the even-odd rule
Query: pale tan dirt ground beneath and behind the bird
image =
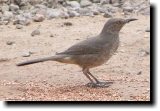
[[(102, 15), (70, 19), (45, 20), (23, 29), (14, 25), (0, 26), (0, 100), (86, 100), (149, 101), (150, 100), (150, 16), (134, 16), (139, 20), (123, 27), (120, 47), (104, 65), (91, 69), (101, 81), (112, 81), (107, 88), (87, 87), (89, 81), (76, 65), (54, 61), (17, 67), (16, 63), (46, 55), (54, 55), (71, 45), (96, 36), (108, 20)], [(63, 25), (71, 22), (72, 26)], [(39, 36), (30, 34), (41, 25)], [(50, 35), (53, 37), (50, 37)], [(7, 45), (6, 42), (14, 44)], [(30, 57), (22, 53), (32, 52)]]

